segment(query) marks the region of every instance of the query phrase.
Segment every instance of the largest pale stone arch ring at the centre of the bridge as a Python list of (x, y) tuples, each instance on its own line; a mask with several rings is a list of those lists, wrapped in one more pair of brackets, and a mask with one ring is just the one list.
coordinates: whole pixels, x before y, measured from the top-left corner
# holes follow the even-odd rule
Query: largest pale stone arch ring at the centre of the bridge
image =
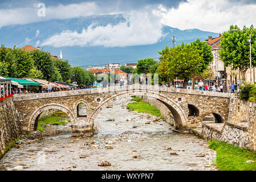
[(185, 114), (185, 111), (182, 109), (182, 107), (175, 101), (170, 100), (169, 98), (166, 98), (166, 96), (160, 94), (160, 93), (154, 93), (149, 91), (127, 91), (120, 94), (115, 94), (112, 97), (108, 98), (107, 100), (104, 100), (101, 102), (95, 109), (94, 112), (88, 117), (88, 122), (91, 124), (94, 123), (94, 119), (96, 118), (96, 115), (100, 113), (100, 111), (107, 107), (109, 104), (111, 104), (113, 101), (119, 100), (120, 98), (126, 98), (128, 96), (148, 96), (152, 98), (156, 98), (156, 100), (162, 102), (165, 106), (168, 107), (168, 109), (173, 114), (174, 120), (176, 122), (176, 126), (180, 129), (184, 127), (184, 123), (188, 121), (188, 118)]

